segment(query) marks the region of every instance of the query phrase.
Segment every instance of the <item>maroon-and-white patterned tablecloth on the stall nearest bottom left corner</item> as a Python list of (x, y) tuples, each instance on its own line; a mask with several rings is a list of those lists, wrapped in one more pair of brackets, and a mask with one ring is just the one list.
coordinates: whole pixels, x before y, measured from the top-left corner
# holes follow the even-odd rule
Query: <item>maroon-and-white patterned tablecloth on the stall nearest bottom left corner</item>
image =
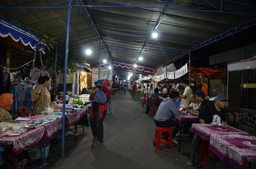
[(44, 126), (30, 129), (26, 133), (0, 138), (0, 145), (3, 148), (12, 150), (12, 157), (38, 143), (44, 137)]

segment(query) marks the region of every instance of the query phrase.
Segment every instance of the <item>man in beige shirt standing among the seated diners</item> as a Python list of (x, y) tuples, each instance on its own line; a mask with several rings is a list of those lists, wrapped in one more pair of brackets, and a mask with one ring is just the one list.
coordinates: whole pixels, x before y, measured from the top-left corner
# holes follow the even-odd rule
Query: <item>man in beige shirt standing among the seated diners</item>
[(190, 105), (190, 95), (192, 94), (192, 89), (189, 86), (189, 80), (184, 80), (183, 82), (184, 93), (180, 94), (181, 103), (180, 107), (188, 107)]

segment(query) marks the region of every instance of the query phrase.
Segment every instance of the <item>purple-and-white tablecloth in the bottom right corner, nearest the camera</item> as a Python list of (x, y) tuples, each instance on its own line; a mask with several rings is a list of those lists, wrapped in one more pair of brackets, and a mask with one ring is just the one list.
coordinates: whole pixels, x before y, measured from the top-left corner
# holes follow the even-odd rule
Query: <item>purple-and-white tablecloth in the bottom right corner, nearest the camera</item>
[(256, 137), (248, 133), (210, 135), (209, 149), (237, 169), (247, 169), (247, 159), (256, 158)]

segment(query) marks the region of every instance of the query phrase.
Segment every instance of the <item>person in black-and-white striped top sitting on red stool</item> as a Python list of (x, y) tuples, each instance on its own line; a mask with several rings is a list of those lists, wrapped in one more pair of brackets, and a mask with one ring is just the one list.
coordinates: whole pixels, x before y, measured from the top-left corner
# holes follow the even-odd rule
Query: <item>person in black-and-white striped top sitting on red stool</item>
[(174, 127), (172, 131), (172, 141), (178, 144), (175, 136), (180, 130), (180, 126), (172, 119), (174, 115), (180, 115), (174, 101), (180, 99), (178, 91), (170, 91), (169, 97), (165, 98), (159, 105), (156, 116), (155, 123), (158, 127)]

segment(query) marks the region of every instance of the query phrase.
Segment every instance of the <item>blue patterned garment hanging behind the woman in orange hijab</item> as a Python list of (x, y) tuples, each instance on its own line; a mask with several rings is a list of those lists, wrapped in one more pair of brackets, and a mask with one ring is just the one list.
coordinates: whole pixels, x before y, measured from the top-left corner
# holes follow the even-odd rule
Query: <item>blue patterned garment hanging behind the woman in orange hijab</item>
[(18, 84), (11, 89), (13, 94), (13, 110), (11, 115), (13, 119), (20, 117), (18, 107), (23, 105), (27, 107), (29, 114), (31, 115), (32, 101), (31, 101), (32, 87), (26, 84)]

